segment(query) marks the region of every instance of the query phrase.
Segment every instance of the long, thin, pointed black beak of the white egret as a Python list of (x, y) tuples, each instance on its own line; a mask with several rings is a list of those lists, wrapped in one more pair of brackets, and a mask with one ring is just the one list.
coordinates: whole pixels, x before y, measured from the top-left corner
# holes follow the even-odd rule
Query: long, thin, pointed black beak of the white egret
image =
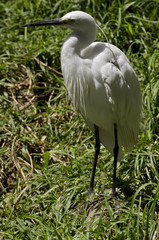
[(62, 20), (62, 18), (57, 18), (57, 19), (51, 19), (51, 20), (44, 20), (40, 22), (33, 22), (33, 23), (28, 23), (24, 24), (21, 27), (37, 27), (37, 26), (47, 26), (47, 25), (63, 25), (65, 22)]

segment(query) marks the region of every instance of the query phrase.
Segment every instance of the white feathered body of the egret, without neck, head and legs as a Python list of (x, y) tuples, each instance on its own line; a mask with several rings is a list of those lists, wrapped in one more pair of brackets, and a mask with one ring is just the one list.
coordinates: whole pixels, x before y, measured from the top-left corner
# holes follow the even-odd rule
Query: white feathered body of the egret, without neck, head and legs
[(104, 43), (92, 43), (73, 64), (65, 64), (67, 74), (63, 69), (73, 105), (92, 131), (99, 127), (100, 141), (112, 154), (117, 123), (121, 158), (121, 146), (131, 148), (138, 134), (141, 94), (133, 68), (120, 49)]

